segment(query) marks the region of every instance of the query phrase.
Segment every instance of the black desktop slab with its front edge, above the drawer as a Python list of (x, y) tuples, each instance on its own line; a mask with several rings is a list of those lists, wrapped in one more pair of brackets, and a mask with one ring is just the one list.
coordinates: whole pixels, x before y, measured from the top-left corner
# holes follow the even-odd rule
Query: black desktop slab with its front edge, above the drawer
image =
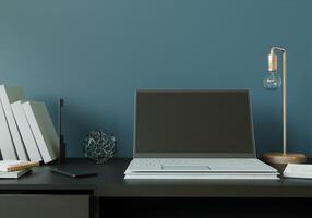
[(96, 165), (86, 159), (69, 159), (63, 167), (93, 170), (97, 177), (73, 179), (50, 172), (52, 166), (33, 169), (19, 180), (0, 180), (5, 191), (91, 191), (95, 196), (127, 197), (312, 197), (312, 180), (123, 180), (130, 159), (112, 159)]

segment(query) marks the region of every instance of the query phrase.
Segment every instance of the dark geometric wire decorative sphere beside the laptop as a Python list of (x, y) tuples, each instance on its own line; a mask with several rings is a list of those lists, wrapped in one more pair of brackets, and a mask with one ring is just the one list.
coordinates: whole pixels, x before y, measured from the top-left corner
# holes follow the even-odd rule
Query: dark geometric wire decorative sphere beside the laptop
[(103, 164), (113, 157), (116, 144), (116, 137), (109, 131), (91, 131), (83, 141), (84, 155), (96, 164)]

